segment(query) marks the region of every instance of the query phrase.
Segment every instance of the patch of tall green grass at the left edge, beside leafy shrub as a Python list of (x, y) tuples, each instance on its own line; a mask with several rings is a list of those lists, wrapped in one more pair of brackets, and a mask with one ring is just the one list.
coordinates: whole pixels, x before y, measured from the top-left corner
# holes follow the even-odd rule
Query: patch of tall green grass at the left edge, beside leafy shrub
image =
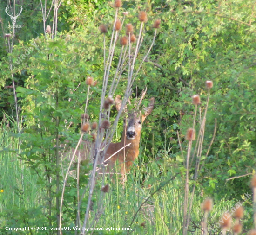
[[(29, 209), (40, 203), (37, 177), (30, 173), (15, 153), (19, 152), (16, 132), (16, 122), (6, 115), (6, 119), (0, 123), (0, 189), (3, 190), (0, 193), (1, 214), (15, 207)], [(1, 226), (5, 225), (5, 220), (0, 217)]]

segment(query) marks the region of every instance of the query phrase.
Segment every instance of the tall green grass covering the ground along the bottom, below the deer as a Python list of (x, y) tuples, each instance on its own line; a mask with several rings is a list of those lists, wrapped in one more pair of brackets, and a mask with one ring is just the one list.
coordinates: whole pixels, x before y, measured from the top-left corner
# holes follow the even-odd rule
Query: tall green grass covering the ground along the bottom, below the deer
[[(24, 164), (15, 151), (4, 151), (5, 149), (18, 150), (19, 140), (14, 137), (13, 130), (16, 130), (13, 120), (9, 117), (0, 125), (0, 231), (1, 234), (12, 234), (6, 231), (5, 227), (25, 227), (25, 226), (47, 226), (47, 205), (46, 191), (40, 185), (40, 177), (44, 177), (44, 172), (38, 176)], [(2, 151), (3, 150), (3, 151)], [(143, 152), (143, 151), (141, 151)], [(140, 156), (143, 159), (144, 156)], [(164, 158), (168, 158), (166, 155)], [(103, 201), (102, 213), (99, 216), (97, 227), (103, 228), (130, 228), (133, 234), (145, 235), (178, 235), (182, 234), (183, 219), (183, 184), (182, 178), (176, 177), (166, 181), (166, 174), (175, 175), (171, 167), (162, 167), (161, 170), (156, 161), (149, 162), (147, 165), (138, 163), (141, 167), (133, 168), (133, 172), (128, 175), (126, 187), (111, 184), (110, 191), (101, 197), (101, 182), (98, 182), (94, 193), (94, 204), (92, 205), (91, 215), (96, 213), (97, 204)], [(136, 169), (136, 173), (134, 172)], [(146, 172), (146, 174), (145, 174)], [(108, 182), (109, 183), (109, 182)], [(72, 188), (67, 185), (67, 193), (72, 192)], [(83, 191), (83, 189), (82, 189)], [(150, 197), (153, 192), (156, 193)], [(86, 194), (88, 191), (86, 191)], [(146, 203), (142, 206), (141, 204)], [(86, 197), (85, 197), (86, 198)], [(53, 202), (54, 203), (54, 202)], [(191, 223), (189, 234), (201, 234), (200, 222), (202, 220), (201, 211), (201, 191), (197, 191), (193, 200), (191, 210)], [(232, 208), (235, 201), (215, 202), (213, 210), (209, 215), (209, 226), (214, 227), (219, 217), (225, 210)], [(64, 203), (65, 204), (65, 203)], [(73, 206), (72, 206), (73, 205)], [(75, 234), (75, 203), (66, 202), (66, 213), (63, 216), (65, 223), (63, 227), (70, 226), (71, 231), (63, 234)], [(139, 210), (139, 211), (138, 211)], [(138, 212), (137, 212), (138, 211)], [(71, 216), (73, 213), (73, 216)], [(81, 209), (81, 214), (85, 211)], [(89, 216), (92, 218), (94, 216)], [(54, 215), (52, 221), (54, 224)], [(90, 221), (93, 223), (93, 221)], [(81, 225), (82, 226), (82, 225)], [(217, 229), (214, 228), (214, 229)], [(14, 233), (13, 233), (14, 234)], [(18, 231), (15, 234), (29, 234), (28, 232)], [(31, 233), (30, 233), (31, 234)], [(44, 231), (33, 232), (32, 234), (46, 234)], [(48, 232), (47, 234), (56, 234)], [(127, 234), (127, 232), (94, 231), (94, 234)]]

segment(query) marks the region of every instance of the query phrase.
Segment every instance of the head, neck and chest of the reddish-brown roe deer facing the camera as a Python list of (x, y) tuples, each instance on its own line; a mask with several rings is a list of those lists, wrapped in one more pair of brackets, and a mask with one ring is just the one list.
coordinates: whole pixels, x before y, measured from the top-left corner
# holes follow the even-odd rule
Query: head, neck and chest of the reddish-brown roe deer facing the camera
[[(131, 165), (139, 155), (142, 123), (154, 109), (155, 98), (152, 97), (148, 101), (148, 107), (142, 108), (142, 112), (127, 113), (128, 117), (124, 120), (121, 142), (110, 143), (104, 157), (104, 163), (107, 165), (105, 172), (115, 172), (116, 163), (118, 162), (118, 172), (116, 173), (120, 173), (123, 181), (125, 180), (126, 172), (129, 172)], [(139, 105), (140, 103), (141, 101)], [(121, 108), (120, 95), (115, 97), (115, 108), (117, 111)], [(126, 108), (125, 112), (127, 112)]]

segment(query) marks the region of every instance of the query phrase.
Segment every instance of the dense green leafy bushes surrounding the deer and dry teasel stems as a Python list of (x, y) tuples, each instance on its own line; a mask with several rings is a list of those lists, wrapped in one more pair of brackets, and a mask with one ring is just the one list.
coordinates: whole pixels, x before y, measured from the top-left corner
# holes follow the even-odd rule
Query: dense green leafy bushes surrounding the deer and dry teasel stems
[[(5, 178), (6, 173), (1, 175), (0, 187), (3, 187), (6, 192), (8, 191), (7, 185), (12, 184), (13, 188), (10, 191), (14, 198), (13, 204), (4, 203), (0, 199), (2, 221), (15, 227), (25, 224), (32, 226), (33, 222), (37, 222), (38, 226), (55, 224), (55, 209), (53, 209), (51, 218), (47, 217), (47, 210), (52, 206), (52, 202), (48, 203), (48, 198), (53, 201), (54, 205), (56, 198), (60, 196), (55, 194), (54, 175), (61, 172), (60, 168), (54, 167), (56, 164), (56, 149), (54, 148), (56, 139), (60, 137), (61, 142), (65, 140), (75, 142), (79, 139), (81, 114), (84, 110), (88, 89), (85, 84), (87, 76), (93, 76), (98, 82), (89, 90), (90, 100), (88, 103), (91, 121), (98, 119), (103, 77), (103, 36), (99, 32), (98, 26), (105, 23), (111, 28), (115, 14), (112, 6), (105, 1), (65, 1), (61, 4), (58, 13), (59, 33), (54, 40), (51, 40), (48, 36), (44, 36), (41, 9), (38, 5), (40, 2), (36, 1), (31, 4), (32, 2), (27, 0), (22, 5), (23, 12), (17, 18), (16, 24), (23, 26), (15, 33), (12, 53), (7, 54), (5, 46), (7, 38), (4, 38), (3, 34), (0, 37), (1, 130), (3, 133), (9, 134), (9, 137), (7, 135), (2, 137), (2, 143), (13, 137), (19, 140), (12, 145), (9, 143), (1, 145), (0, 150), (4, 149), (4, 151), (0, 154), (1, 158), (5, 160), (9, 158), (9, 154), (12, 155), (12, 158), (14, 153), (18, 154), (19, 160), (15, 158), (13, 161), (18, 161), (17, 164), (22, 165), (21, 174), (24, 176), (25, 168), (29, 168), (31, 173), (27, 178), (17, 180), (19, 181), (17, 184), (14, 182), (15, 180), (9, 183)], [(47, 6), (51, 6), (50, 2), (47, 2)], [(195, 205), (193, 205), (191, 216), (194, 223), (191, 227), (196, 229), (195, 225), (200, 226), (201, 217), (196, 216), (198, 213), (196, 208), (202, 202), (201, 190), (204, 197), (213, 197), (216, 204), (219, 202), (219, 206), (212, 213), (213, 227), (216, 218), (229, 208), (232, 202), (236, 203), (244, 199), (244, 193), (250, 191), (250, 175), (255, 173), (256, 169), (256, 97), (254, 94), (256, 87), (254, 59), (256, 8), (254, 6), (255, 2), (248, 0), (123, 2), (123, 8), (129, 12), (125, 23), (134, 25), (135, 34), (138, 33), (139, 28), (138, 9), (148, 12), (148, 23), (143, 34), (144, 43), (141, 45), (139, 59), (144, 56), (152, 42), (154, 20), (161, 19), (161, 27), (153, 49), (146, 63), (142, 65), (133, 87), (133, 96), (135, 97), (146, 86), (147, 96), (154, 96), (156, 105), (153, 113), (145, 121), (141, 132), (141, 155), (136, 163), (142, 165), (141, 171), (135, 175), (135, 178), (132, 176), (129, 178), (126, 190), (128, 188), (138, 189), (141, 191), (141, 197), (146, 197), (152, 193), (149, 190), (144, 191), (148, 185), (152, 185), (155, 191), (161, 182), (164, 183), (178, 174), (171, 184), (164, 186), (153, 197), (155, 206), (159, 206), (158, 208), (156, 206), (155, 214), (162, 213), (164, 218), (156, 218), (156, 224), (159, 227), (156, 226), (156, 230), (148, 229), (148, 234), (154, 234), (154, 232), (167, 234), (168, 229), (175, 234), (176, 230), (180, 229), (181, 218), (177, 219), (176, 216), (182, 216), (182, 213), (179, 214), (176, 211), (177, 208), (166, 209), (164, 205), (170, 203), (170, 200), (174, 200), (171, 203), (181, 208), (182, 203), (177, 203), (170, 197), (170, 192), (173, 192), (179, 199), (183, 195), (182, 173), (184, 167), (177, 131), (180, 134), (185, 155), (188, 146), (185, 134), (187, 129), (192, 126), (194, 117), (191, 96), (201, 95), (201, 108), (205, 110), (206, 80), (212, 80), (214, 86), (210, 90), (203, 156), (206, 155), (213, 137), (215, 119), (217, 127), (209, 155), (207, 158), (202, 158), (202, 167), (196, 182)], [(1, 2), (0, 16), (4, 26), (10, 21), (4, 12), (5, 7)], [(47, 25), (52, 24), (51, 17), (50, 14)], [(5, 27), (4, 31), (4, 33), (9, 33)], [(122, 33), (125, 33), (124, 29)], [(108, 43), (109, 35), (108, 32)], [(38, 36), (39, 39), (34, 41), (33, 38)], [(32, 47), (33, 51), (19, 61), (18, 57), (21, 58), (29, 47)], [(117, 52), (119, 51), (120, 47), (117, 48)], [(117, 62), (118, 56), (115, 54), (113, 67), (116, 67)], [(9, 64), (15, 65), (13, 71), (8, 69)], [(15, 108), (13, 108), (15, 102), (11, 87), (12, 74), (17, 86), (16, 92), (21, 110), (19, 122), (22, 130), (20, 133), (13, 128), (16, 126), (13, 120), (15, 119)], [(123, 94), (125, 84), (126, 79), (122, 77), (117, 94)], [(6, 127), (5, 114), (13, 116), (8, 119), (12, 120), (9, 123), (12, 129)], [(115, 109), (113, 108), (112, 120), (114, 117)], [(198, 119), (195, 125), (197, 133), (199, 126)], [(120, 136), (119, 128), (114, 141), (120, 139)], [(195, 143), (193, 144), (194, 148)], [(4, 164), (7, 164), (7, 161)], [(7, 167), (12, 168), (11, 165)], [(194, 167), (195, 159), (192, 162), (191, 174), (194, 172)], [(89, 169), (91, 169), (91, 165), (85, 171), (88, 172)], [(31, 182), (37, 184), (37, 192), (42, 197), (33, 192), (34, 198), (29, 198), (31, 202), (27, 204), (27, 191), (34, 189), (25, 187), (24, 180), (28, 180), (30, 177), (36, 178), (36, 175), (38, 178), (31, 179)], [(154, 177), (151, 178), (152, 175)], [(242, 177), (238, 178), (238, 176)], [(60, 180), (63, 180), (62, 177), (63, 175)], [(15, 175), (15, 178), (18, 179), (19, 176)], [(76, 186), (74, 186), (75, 182), (72, 181), (72, 178), (69, 180), (69, 192), (65, 194), (67, 216), (64, 219), (68, 224), (74, 224), (74, 216), (77, 212), (73, 210), (77, 203)], [(81, 188), (86, 185), (87, 181), (88, 178), (84, 177)], [(26, 191), (24, 191), (25, 189)], [(97, 192), (100, 193), (100, 185), (97, 186)], [(108, 221), (108, 226), (111, 226), (111, 222), (114, 223), (115, 220), (126, 216), (126, 211), (129, 211), (129, 217), (121, 220), (117, 225), (129, 224), (141, 203), (140, 195), (133, 194), (131, 191), (113, 190), (112, 192), (113, 194), (104, 199), (106, 202), (111, 200), (114, 204), (113, 207), (108, 208), (105, 221)], [(126, 195), (132, 196), (129, 198)], [(137, 201), (132, 201), (132, 198), (136, 196)], [(113, 208), (117, 208), (119, 205), (119, 197), (126, 198), (126, 210), (123, 210), (122, 214), (113, 211)], [(9, 196), (6, 197), (6, 200), (8, 198)], [(87, 197), (84, 198), (83, 209), (86, 207), (86, 199)], [(225, 200), (230, 200), (231, 203), (225, 205), (223, 203)], [(244, 203), (247, 207), (245, 231), (252, 227), (251, 215), (253, 212), (250, 200), (251, 198)], [(95, 196), (94, 202), (96, 201), (97, 197)], [(131, 210), (128, 210), (129, 203), (134, 203)], [(226, 208), (223, 210), (220, 209), (225, 206)], [(72, 207), (74, 208), (71, 210)], [(177, 214), (168, 217), (169, 211), (175, 211)], [(110, 219), (111, 214), (113, 216)], [(138, 224), (143, 222), (142, 217), (136, 221)], [(12, 219), (8, 221), (7, 218)], [(175, 221), (175, 219), (177, 220)], [(165, 229), (161, 228), (163, 230), (160, 229), (161, 222), (165, 224), (163, 226)], [(101, 225), (104, 225), (104, 220), (100, 221), (99, 226)], [(140, 226), (136, 225), (135, 229), (138, 233), (141, 231)], [(199, 233), (199, 230), (197, 232)]]

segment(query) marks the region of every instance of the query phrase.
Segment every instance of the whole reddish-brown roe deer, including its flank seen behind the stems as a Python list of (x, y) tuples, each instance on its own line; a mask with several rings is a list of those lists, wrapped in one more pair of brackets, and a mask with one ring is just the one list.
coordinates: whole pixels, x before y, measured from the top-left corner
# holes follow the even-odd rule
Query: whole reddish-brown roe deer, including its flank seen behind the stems
[[(142, 98), (143, 97), (141, 97), (141, 100)], [(141, 100), (139, 105), (141, 104)], [(142, 112), (127, 112), (127, 109), (125, 108), (124, 112), (128, 114), (128, 117), (124, 120), (121, 142), (109, 144), (104, 159), (99, 159), (98, 161), (99, 173), (102, 173), (103, 171), (105, 173), (110, 173), (111, 175), (113, 173), (119, 173), (121, 180), (125, 180), (126, 172), (130, 170), (131, 165), (139, 155), (142, 123), (154, 109), (155, 98), (152, 97), (148, 101), (148, 107), (142, 108)], [(117, 111), (120, 110), (121, 103), (121, 96), (117, 95), (115, 97), (115, 108)], [(104, 146), (102, 146), (102, 148), (103, 147)], [(70, 153), (73, 155), (74, 149), (71, 149)], [(80, 155), (81, 161), (84, 161), (94, 156), (94, 153), (94, 145), (92, 145), (91, 142), (81, 141), (81, 145), (79, 146), (78, 151), (76, 151), (75, 156)], [(65, 155), (66, 154), (64, 154), (64, 156)], [(71, 157), (71, 155), (69, 157)], [(68, 157), (68, 155), (66, 156)], [(118, 165), (116, 165), (117, 162)], [(117, 172), (115, 171), (116, 166)]]

